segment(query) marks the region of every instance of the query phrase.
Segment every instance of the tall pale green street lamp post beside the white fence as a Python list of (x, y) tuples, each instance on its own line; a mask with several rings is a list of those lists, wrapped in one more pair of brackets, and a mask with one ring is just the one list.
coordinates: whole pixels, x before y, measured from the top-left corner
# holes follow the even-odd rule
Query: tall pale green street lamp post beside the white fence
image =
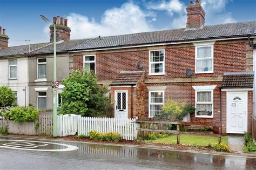
[[(53, 82), (57, 80), (57, 73), (56, 73), (56, 26), (55, 23), (49, 21), (48, 18), (46, 18), (43, 15), (40, 15), (40, 17), (45, 22), (50, 22), (54, 26), (54, 32), (53, 32)], [(57, 89), (55, 85), (53, 85), (53, 137), (57, 137)]]

